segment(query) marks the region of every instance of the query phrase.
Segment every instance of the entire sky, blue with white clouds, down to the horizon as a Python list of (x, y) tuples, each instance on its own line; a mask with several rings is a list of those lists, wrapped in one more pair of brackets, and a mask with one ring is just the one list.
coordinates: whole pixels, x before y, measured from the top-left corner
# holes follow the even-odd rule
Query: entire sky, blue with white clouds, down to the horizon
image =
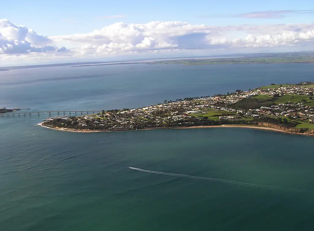
[(2, 1), (0, 66), (314, 50), (314, 1)]

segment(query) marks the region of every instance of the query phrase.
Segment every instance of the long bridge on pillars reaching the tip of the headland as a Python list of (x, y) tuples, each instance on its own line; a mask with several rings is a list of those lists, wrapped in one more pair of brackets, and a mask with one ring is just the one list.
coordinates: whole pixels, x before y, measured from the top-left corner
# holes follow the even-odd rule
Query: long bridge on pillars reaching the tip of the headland
[(101, 110), (79, 110), (79, 111), (32, 111), (32, 112), (15, 112), (15, 113), (2, 113), (1, 117), (8, 117), (8, 116), (31, 116), (31, 115), (42, 115), (42, 114), (57, 114), (58, 116), (65, 116), (66, 113), (68, 113), (68, 116), (71, 116), (71, 113), (73, 116), (76, 115), (88, 115), (88, 114), (95, 114), (95, 113), (100, 113)]

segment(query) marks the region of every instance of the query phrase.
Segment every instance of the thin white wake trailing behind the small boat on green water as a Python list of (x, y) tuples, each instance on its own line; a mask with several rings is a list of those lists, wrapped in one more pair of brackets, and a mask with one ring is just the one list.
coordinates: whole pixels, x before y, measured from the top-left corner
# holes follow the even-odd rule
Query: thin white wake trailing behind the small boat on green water
[(151, 170), (134, 168), (134, 167), (129, 167), (129, 168), (133, 169), (133, 170), (140, 171), (140, 172), (148, 172), (148, 173), (168, 175), (168, 176), (174, 176), (174, 177), (185, 177), (185, 178), (198, 179), (198, 180), (218, 181), (218, 182), (229, 183), (229, 184), (238, 184), (238, 185), (251, 186), (251, 187), (257, 187), (257, 188), (284, 190), (284, 191), (291, 191), (291, 192), (311, 192), (311, 193), (314, 193), (314, 191), (305, 190), (305, 189), (292, 189), (292, 188), (276, 187), (276, 186), (269, 186), (269, 185), (263, 185), (263, 184), (252, 184), (252, 183), (238, 182), (238, 181), (232, 181), (232, 180), (224, 180), (224, 179), (212, 178), (212, 177), (197, 177), (197, 176), (190, 176), (190, 175), (176, 174), (176, 173), (169, 173), (169, 172), (157, 172), (157, 171), (151, 171)]

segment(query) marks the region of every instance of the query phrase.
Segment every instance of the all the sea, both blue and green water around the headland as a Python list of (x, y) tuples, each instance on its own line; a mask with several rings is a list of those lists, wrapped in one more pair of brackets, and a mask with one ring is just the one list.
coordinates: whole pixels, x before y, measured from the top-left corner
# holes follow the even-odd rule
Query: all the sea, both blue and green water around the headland
[[(313, 64), (0, 72), (0, 107), (137, 108), (314, 81)], [(0, 116), (0, 230), (310, 230), (313, 137), (250, 128), (62, 132)], [(129, 168), (131, 167), (131, 168)]]

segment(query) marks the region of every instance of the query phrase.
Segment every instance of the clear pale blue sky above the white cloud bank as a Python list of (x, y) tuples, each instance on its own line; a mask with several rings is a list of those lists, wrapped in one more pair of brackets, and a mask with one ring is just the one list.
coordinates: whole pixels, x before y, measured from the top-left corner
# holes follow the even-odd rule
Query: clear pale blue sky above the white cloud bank
[[(241, 24), (287, 24), (312, 23), (314, 14), (286, 14), (277, 19), (235, 18), (232, 14), (256, 11), (309, 10), (314, 1), (74, 1), (74, 0), (15, 0), (1, 3), (1, 18), (17, 25), (25, 25), (46, 36), (87, 33), (93, 29), (117, 21), (147, 23), (150, 21), (182, 21), (191, 24), (241, 25)], [(220, 14), (220, 15), (219, 15)], [(230, 14), (230, 17), (225, 14)], [(99, 19), (112, 15), (123, 18)], [(217, 17), (216, 17), (217, 16)], [(223, 17), (225, 16), (225, 18)], [(99, 17), (99, 18), (98, 18)]]

